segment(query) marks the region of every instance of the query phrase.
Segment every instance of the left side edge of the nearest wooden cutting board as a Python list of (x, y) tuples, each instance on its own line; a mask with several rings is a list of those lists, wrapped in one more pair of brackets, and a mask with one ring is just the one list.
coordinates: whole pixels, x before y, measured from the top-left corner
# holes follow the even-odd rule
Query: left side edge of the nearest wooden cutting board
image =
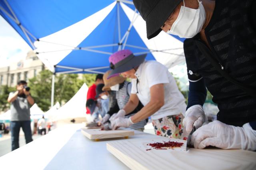
[[(142, 166), (141, 164), (136, 162), (136, 160), (130, 158), (126, 154), (122, 153), (120, 150), (114, 148), (109, 143), (107, 143), (107, 150), (111, 154), (113, 154), (116, 158), (118, 158), (118, 160), (120, 160), (123, 164), (125, 164), (126, 166), (128, 166), (128, 168), (130, 168), (132, 170), (148, 170), (148, 168)], [(124, 161), (124, 160), (126, 160), (126, 161)], [(131, 162), (131, 163), (127, 163), (127, 162)], [(136, 162), (137, 164), (135, 165), (132, 162)]]

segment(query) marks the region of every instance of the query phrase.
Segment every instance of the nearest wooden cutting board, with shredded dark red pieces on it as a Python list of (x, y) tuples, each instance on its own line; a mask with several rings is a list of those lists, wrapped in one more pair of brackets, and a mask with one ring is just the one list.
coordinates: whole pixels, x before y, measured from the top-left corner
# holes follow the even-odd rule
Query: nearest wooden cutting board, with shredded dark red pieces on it
[[(154, 140), (154, 141), (152, 141)], [(245, 150), (222, 150), (217, 148), (177, 150), (146, 150), (152, 142), (168, 141), (169, 138), (143, 138), (118, 140), (107, 143), (107, 150), (133, 170), (169, 169), (254, 169), (256, 152)]]

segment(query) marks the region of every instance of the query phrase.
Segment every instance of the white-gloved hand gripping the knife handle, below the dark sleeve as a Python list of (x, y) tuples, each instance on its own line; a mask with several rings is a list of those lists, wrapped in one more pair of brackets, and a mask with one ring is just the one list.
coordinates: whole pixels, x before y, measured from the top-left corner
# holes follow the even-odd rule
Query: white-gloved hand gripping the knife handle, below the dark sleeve
[(184, 129), (190, 133), (193, 129), (193, 125), (195, 128), (199, 128), (203, 125), (204, 121), (205, 115), (203, 107), (201, 105), (194, 105), (186, 111), (186, 116), (183, 119), (182, 124)]

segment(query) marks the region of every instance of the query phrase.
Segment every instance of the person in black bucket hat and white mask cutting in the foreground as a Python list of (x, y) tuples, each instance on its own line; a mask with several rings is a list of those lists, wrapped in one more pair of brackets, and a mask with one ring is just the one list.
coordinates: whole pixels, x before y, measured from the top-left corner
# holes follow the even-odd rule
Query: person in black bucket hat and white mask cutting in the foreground
[[(256, 150), (256, 1), (133, 2), (146, 21), (148, 39), (161, 30), (187, 38), (190, 92), (183, 124), (187, 132), (198, 128), (194, 147)], [(220, 111), (217, 121), (202, 126), (206, 87)]]

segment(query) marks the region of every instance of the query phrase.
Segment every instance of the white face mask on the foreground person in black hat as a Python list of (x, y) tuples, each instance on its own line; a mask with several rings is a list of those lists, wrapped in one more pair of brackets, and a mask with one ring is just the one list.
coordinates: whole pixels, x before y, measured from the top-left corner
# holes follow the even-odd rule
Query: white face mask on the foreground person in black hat
[(184, 3), (184, 6), (180, 7), (178, 18), (172, 24), (172, 28), (166, 33), (179, 36), (180, 38), (192, 38), (202, 30), (205, 18), (206, 15), (202, 2), (199, 2), (197, 10), (185, 7)]

